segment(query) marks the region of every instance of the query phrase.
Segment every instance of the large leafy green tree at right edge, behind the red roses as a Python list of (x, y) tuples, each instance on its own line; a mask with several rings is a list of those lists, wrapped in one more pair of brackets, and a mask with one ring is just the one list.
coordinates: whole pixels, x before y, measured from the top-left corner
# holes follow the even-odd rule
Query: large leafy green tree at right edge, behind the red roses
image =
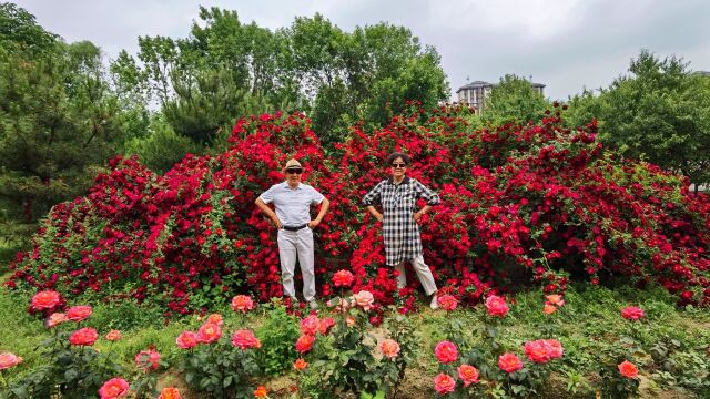
[(623, 156), (645, 158), (707, 183), (710, 171), (710, 84), (681, 58), (643, 50), (630, 74), (602, 93), (601, 140)]

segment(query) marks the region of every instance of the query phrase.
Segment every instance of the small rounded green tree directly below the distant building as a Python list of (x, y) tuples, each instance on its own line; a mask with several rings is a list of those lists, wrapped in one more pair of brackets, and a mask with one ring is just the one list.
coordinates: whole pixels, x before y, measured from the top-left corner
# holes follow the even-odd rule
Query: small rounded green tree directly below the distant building
[(528, 80), (506, 74), (486, 96), (481, 119), (494, 125), (539, 121), (547, 108), (549, 102), (532, 89)]

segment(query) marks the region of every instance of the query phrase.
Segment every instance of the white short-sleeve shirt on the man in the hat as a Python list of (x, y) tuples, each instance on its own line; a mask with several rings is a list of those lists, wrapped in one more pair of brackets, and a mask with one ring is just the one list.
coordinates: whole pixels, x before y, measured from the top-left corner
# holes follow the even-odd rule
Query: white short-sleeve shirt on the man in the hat
[(311, 205), (322, 203), (325, 197), (307, 184), (298, 183), (296, 188), (291, 188), (283, 182), (271, 186), (260, 198), (264, 204), (274, 203), (276, 216), (284, 226), (302, 226), (311, 222)]

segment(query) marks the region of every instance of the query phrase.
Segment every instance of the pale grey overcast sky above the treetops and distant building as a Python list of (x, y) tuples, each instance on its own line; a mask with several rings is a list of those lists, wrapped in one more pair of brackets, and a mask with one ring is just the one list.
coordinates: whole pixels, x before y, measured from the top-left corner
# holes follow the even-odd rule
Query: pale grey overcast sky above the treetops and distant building
[(710, 71), (708, 0), (21, 0), (65, 41), (90, 40), (109, 58), (135, 54), (139, 35), (185, 38), (199, 4), (236, 10), (275, 30), (320, 12), (345, 31), (381, 21), (434, 45), (452, 88), (532, 76), (550, 99), (607, 86), (641, 49)]

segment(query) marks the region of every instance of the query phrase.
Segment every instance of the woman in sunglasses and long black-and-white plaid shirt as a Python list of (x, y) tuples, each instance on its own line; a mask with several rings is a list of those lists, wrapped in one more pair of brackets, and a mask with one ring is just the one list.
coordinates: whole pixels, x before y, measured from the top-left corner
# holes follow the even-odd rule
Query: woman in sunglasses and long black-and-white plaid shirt
[[(409, 262), (419, 277), (419, 282), (432, 296), (432, 309), (438, 308), (436, 300), (436, 283), (432, 270), (424, 263), (422, 237), (417, 222), (433, 205), (439, 203), (439, 197), (417, 180), (406, 176), (409, 156), (400, 152), (392, 153), (387, 157), (392, 177), (379, 182), (363, 197), (363, 205), (383, 224), (385, 237), (385, 255), (387, 265), (394, 266), (397, 276), (397, 288), (407, 284), (404, 263)], [(417, 198), (424, 198), (426, 205), (415, 213)], [(374, 205), (382, 205), (379, 213)]]

